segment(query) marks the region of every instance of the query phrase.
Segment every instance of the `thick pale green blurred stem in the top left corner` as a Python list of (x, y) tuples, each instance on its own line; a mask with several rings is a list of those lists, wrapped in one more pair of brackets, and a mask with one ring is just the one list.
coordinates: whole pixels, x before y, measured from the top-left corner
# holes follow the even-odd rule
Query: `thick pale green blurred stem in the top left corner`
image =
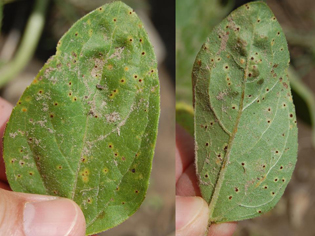
[(36, 0), (15, 57), (0, 68), (0, 88), (19, 74), (32, 58), (44, 28), (48, 2), (49, 0)]

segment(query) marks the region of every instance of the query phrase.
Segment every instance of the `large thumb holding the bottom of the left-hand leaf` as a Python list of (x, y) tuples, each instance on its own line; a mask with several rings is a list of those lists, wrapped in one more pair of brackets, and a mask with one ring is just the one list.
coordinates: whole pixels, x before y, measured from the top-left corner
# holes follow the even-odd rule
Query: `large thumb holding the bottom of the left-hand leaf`
[(69, 199), (0, 189), (0, 235), (84, 236), (85, 219)]

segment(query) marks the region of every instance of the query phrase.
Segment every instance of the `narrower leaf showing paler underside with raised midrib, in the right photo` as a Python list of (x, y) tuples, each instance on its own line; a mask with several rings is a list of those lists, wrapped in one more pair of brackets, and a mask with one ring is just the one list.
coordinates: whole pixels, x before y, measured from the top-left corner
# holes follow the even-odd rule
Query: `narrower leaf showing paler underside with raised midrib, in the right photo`
[(297, 157), (289, 52), (265, 3), (232, 12), (210, 34), (193, 69), (196, 168), (210, 222), (275, 206)]

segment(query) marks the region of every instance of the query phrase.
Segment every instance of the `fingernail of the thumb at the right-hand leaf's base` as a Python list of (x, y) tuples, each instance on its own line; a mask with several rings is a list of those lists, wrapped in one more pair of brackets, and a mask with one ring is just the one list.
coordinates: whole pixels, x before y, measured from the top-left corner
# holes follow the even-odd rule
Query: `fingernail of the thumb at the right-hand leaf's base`
[(199, 197), (176, 197), (176, 229), (183, 229), (193, 222), (204, 207), (204, 201)]

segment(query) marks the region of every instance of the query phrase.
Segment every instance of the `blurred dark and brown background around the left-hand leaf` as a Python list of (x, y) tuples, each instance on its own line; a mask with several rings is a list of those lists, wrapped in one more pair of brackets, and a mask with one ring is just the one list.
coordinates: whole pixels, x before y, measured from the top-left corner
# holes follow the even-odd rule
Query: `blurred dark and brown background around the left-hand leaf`
[[(122, 1), (139, 15), (154, 45), (161, 116), (145, 201), (127, 221), (99, 235), (171, 236), (175, 235), (175, 2)], [(61, 36), (83, 15), (107, 2), (112, 0), (0, 0), (0, 96), (16, 104), (55, 54)]]

